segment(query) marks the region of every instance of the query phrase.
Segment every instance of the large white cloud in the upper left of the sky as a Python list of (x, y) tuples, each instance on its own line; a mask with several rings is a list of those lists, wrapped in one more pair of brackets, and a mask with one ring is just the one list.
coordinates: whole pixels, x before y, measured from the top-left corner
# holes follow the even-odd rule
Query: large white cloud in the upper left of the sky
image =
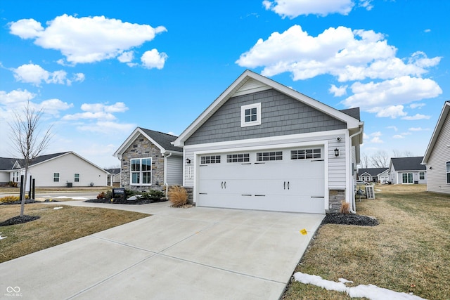
[(76, 18), (65, 14), (47, 22), (45, 29), (33, 19), (9, 25), (11, 34), (34, 39), (34, 44), (42, 48), (58, 50), (74, 65), (116, 58), (167, 31), (163, 26), (153, 28), (104, 16)]

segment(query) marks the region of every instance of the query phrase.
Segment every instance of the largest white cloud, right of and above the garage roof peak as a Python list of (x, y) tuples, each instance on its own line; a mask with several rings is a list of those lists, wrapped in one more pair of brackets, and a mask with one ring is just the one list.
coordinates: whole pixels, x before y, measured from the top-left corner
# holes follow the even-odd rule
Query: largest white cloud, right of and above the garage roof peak
[(302, 80), (331, 74), (344, 82), (417, 77), (441, 59), (417, 52), (404, 63), (395, 57), (396, 53), (397, 48), (387, 44), (383, 34), (372, 30), (330, 27), (313, 37), (300, 25), (294, 25), (285, 32), (273, 32), (265, 41), (259, 39), (236, 63), (241, 67), (263, 67), (262, 74), (269, 77), (290, 72), (294, 80)]

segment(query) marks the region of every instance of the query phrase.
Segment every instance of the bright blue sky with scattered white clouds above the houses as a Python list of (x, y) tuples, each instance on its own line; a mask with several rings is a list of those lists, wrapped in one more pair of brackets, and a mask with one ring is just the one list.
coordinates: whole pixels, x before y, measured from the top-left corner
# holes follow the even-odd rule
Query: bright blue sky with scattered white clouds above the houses
[(450, 100), (450, 2), (0, 1), (0, 157), (30, 101), (46, 153), (100, 167), (141, 126), (179, 135), (249, 69), (336, 109), (362, 152), (421, 156)]

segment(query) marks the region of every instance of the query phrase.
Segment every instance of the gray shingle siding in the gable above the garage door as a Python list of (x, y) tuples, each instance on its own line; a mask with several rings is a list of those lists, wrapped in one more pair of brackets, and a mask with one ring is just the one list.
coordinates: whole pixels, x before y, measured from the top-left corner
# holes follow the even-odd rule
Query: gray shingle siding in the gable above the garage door
[[(241, 127), (240, 107), (254, 103), (261, 103), (262, 124)], [(269, 89), (229, 98), (184, 144), (238, 141), (346, 128), (345, 122)]]

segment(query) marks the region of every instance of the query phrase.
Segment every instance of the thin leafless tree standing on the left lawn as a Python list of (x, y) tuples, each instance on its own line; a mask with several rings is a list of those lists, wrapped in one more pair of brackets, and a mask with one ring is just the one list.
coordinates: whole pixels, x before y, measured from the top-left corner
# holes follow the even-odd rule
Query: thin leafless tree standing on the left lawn
[[(27, 186), (28, 167), (32, 160), (37, 157), (49, 145), (51, 140), (50, 129), (40, 136), (39, 125), (43, 109), (35, 110), (30, 107), (30, 101), (22, 113), (14, 112), (14, 122), (8, 123), (11, 128), (13, 148), (23, 157), (25, 166), (25, 179), (22, 189), (22, 202), (20, 203), (20, 216), (23, 216), (25, 208), (25, 187)], [(39, 141), (38, 141), (39, 139)]]

